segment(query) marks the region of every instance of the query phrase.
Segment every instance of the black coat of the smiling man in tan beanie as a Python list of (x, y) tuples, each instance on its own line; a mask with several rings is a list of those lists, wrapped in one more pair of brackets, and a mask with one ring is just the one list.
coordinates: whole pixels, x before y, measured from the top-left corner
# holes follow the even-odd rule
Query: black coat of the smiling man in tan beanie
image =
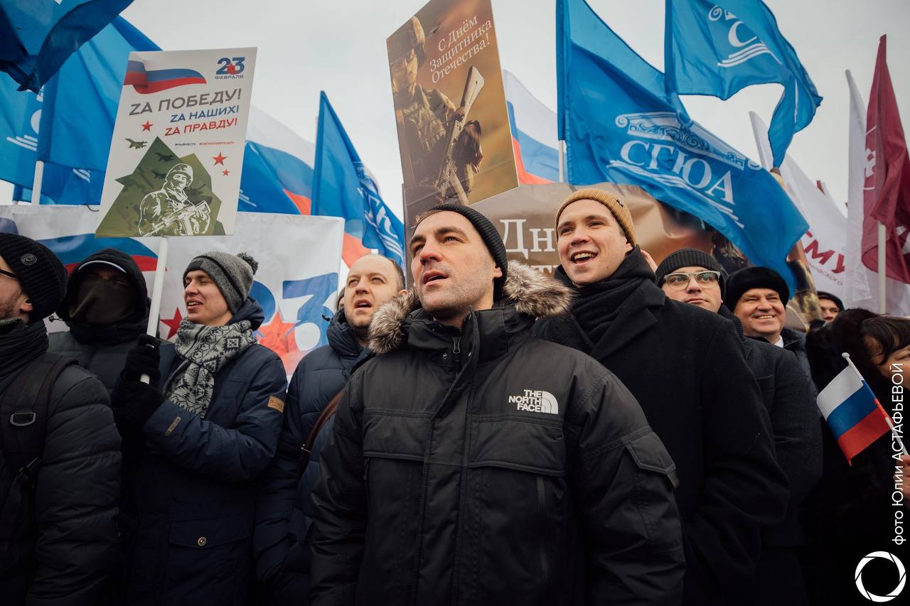
[(685, 602), (702, 606), (751, 577), (763, 527), (784, 520), (787, 480), (731, 323), (667, 298), (647, 279), (626, 301), (633, 304), (622, 305), (592, 348), (572, 316), (541, 320), (535, 329), (610, 369), (670, 451), (680, 474)]

